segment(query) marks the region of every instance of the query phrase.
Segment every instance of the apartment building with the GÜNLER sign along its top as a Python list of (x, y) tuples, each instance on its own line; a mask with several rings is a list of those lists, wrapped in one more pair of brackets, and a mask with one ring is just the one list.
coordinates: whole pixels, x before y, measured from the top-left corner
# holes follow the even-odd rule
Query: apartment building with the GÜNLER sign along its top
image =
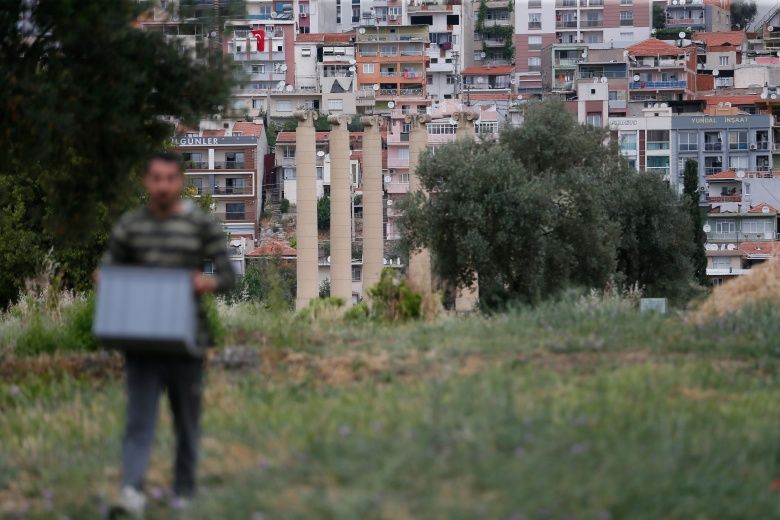
[(211, 197), (214, 214), (231, 238), (256, 238), (267, 148), (259, 122), (204, 123), (199, 130), (180, 127), (174, 138), (187, 185), (195, 196)]

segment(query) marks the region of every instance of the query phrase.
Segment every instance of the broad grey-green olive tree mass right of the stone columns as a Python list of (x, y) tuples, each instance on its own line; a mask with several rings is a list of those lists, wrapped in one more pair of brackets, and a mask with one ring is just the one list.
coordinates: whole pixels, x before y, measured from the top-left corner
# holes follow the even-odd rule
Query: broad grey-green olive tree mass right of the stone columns
[(458, 141), (426, 153), (422, 193), (402, 217), (409, 248), (431, 249), (436, 274), (469, 284), (498, 308), (570, 286), (638, 284), (679, 298), (690, 289), (689, 214), (661, 177), (637, 173), (560, 101), (539, 103), (498, 141)]

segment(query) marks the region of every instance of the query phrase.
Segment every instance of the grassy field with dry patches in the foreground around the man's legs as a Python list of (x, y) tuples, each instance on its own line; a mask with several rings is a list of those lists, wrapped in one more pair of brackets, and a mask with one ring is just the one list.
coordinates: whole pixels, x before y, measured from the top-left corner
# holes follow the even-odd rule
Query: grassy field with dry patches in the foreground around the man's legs
[[(717, 324), (581, 298), (397, 327), (225, 316), (188, 518), (780, 518), (780, 308)], [(97, 518), (106, 354), (0, 358), (0, 517)], [(167, 410), (149, 479), (164, 507)]]

